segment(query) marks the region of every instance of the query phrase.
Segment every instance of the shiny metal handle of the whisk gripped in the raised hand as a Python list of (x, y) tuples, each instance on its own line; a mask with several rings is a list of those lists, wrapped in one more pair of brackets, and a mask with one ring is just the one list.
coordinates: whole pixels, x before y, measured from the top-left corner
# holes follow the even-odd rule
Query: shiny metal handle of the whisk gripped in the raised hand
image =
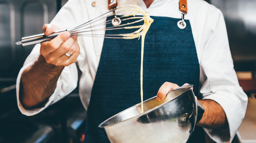
[(29, 46), (29, 45), (33, 45), (33, 44), (42, 43), (44, 41), (50, 41), (64, 31), (67, 31), (67, 29), (55, 31), (55, 32), (53, 32), (53, 34), (51, 34), (49, 36), (46, 36), (44, 34), (38, 34), (38, 35), (23, 37), (21, 39), (21, 41), (16, 42), (15, 45), (22, 44), (22, 46)]

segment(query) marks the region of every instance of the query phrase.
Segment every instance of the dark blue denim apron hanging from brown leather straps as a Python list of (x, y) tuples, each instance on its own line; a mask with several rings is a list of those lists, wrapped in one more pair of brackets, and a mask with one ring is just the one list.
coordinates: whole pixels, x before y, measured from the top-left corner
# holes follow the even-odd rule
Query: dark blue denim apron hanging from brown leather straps
[[(144, 44), (143, 59), (143, 99), (157, 95), (161, 85), (168, 81), (182, 86), (193, 84), (198, 95), (199, 62), (190, 23), (180, 29), (180, 19), (154, 17)], [(109, 17), (107, 20), (112, 19)], [(108, 25), (112, 26), (112, 25)], [(106, 34), (122, 33), (106, 30)], [(85, 131), (86, 143), (109, 143), (98, 125), (113, 115), (140, 103), (140, 57), (141, 38), (104, 39), (102, 53), (97, 69), (91, 99), (87, 110)], [(195, 129), (195, 132), (197, 127)], [(190, 142), (204, 140), (190, 137)], [(195, 133), (198, 134), (198, 133)], [(198, 140), (199, 139), (199, 140)]]

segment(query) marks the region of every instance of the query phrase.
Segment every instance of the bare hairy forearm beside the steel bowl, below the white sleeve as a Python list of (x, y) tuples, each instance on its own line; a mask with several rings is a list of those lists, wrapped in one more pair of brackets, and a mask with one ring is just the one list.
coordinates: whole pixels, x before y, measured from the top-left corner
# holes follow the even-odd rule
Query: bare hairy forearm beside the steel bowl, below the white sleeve
[(199, 102), (205, 111), (197, 126), (219, 128), (227, 124), (225, 112), (220, 104), (213, 100), (199, 100)]

